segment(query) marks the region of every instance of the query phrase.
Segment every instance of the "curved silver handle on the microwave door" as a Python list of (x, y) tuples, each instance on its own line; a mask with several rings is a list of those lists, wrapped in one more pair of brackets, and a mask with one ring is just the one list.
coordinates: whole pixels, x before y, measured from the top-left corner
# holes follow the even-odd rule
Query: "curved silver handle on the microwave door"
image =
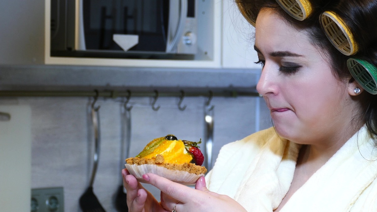
[(176, 53), (178, 42), (183, 36), (185, 18), (187, 17), (187, 0), (170, 0), (169, 26), (166, 53)]

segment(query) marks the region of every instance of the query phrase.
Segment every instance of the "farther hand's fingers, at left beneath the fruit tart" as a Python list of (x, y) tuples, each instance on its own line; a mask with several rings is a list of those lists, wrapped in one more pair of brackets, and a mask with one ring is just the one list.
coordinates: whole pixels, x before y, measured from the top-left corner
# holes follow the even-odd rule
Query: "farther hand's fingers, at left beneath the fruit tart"
[(123, 185), (127, 190), (129, 212), (167, 212), (127, 169), (122, 170), (122, 175)]

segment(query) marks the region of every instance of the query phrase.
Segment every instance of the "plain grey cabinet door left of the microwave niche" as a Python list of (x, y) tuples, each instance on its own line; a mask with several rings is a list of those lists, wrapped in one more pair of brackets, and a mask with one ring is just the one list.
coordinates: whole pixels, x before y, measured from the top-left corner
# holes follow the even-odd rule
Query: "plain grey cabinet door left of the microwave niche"
[(44, 63), (44, 0), (0, 1), (0, 64)]

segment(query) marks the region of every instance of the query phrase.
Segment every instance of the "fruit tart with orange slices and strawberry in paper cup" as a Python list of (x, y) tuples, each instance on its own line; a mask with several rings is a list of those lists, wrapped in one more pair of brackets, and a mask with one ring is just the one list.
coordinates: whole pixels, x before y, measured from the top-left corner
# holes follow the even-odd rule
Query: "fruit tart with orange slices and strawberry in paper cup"
[(140, 182), (143, 174), (154, 173), (176, 183), (195, 184), (207, 169), (199, 142), (178, 140), (174, 135), (155, 138), (136, 157), (126, 159), (126, 168)]

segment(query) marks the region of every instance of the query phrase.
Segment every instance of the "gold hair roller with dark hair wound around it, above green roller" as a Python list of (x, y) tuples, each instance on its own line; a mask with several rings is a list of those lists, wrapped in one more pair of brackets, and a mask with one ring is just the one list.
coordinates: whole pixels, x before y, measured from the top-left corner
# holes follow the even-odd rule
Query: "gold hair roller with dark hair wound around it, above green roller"
[[(377, 38), (377, 1), (340, 0), (320, 16), (328, 39), (344, 55), (371, 51)], [(373, 51), (373, 50), (372, 50)]]

